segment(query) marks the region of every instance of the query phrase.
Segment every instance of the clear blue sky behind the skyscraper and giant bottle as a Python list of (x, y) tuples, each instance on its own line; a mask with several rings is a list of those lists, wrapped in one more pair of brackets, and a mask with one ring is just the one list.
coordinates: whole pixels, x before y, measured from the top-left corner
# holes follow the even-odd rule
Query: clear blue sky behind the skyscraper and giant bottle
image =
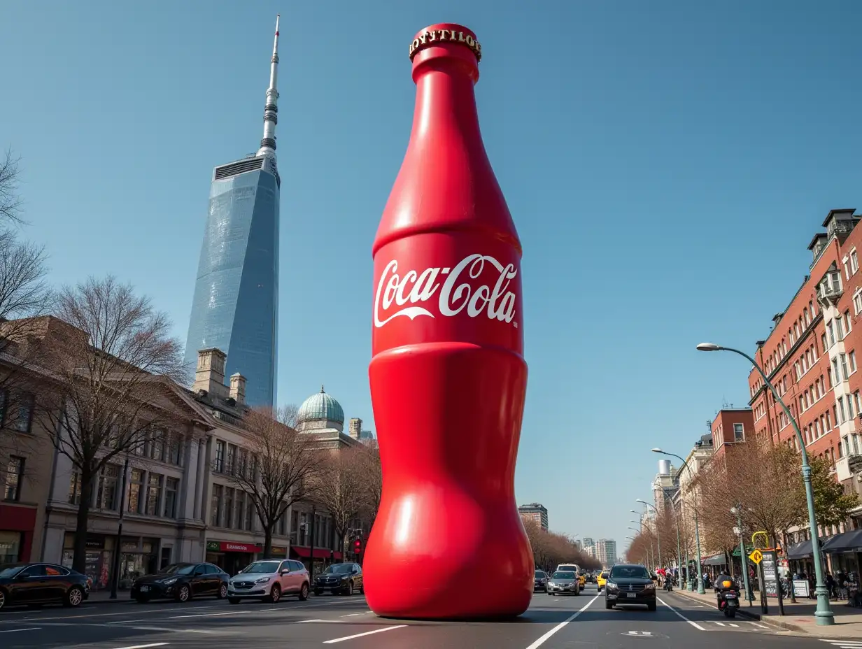
[(747, 401), (746, 365), (696, 343), (753, 349), (828, 210), (862, 209), (862, 7), (4, 2), (0, 145), (53, 281), (113, 273), (184, 340), (212, 168), (259, 146), (279, 11), (279, 401), (324, 383), (373, 427), (371, 246), (409, 136), (407, 47), (461, 22), (524, 247), (517, 497), (624, 546), (649, 449), (684, 454)]

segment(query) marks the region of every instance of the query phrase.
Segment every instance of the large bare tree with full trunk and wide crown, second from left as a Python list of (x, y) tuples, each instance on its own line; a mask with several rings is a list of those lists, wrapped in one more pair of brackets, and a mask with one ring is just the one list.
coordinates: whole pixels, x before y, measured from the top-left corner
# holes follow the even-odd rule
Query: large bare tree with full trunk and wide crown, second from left
[(35, 412), (78, 474), (72, 567), (83, 572), (98, 472), (119, 454), (162, 443), (178, 424), (155, 401), (184, 378), (182, 345), (167, 316), (115, 278), (60, 290), (56, 313), (39, 353), (47, 376)]

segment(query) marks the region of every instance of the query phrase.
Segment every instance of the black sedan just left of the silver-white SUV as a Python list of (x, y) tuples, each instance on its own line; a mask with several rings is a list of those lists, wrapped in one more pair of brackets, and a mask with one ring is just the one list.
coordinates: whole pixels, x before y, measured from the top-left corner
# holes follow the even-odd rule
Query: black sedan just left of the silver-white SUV
[(175, 599), (188, 602), (192, 597), (228, 596), (228, 573), (212, 564), (172, 564), (155, 575), (145, 575), (132, 584), (132, 599)]

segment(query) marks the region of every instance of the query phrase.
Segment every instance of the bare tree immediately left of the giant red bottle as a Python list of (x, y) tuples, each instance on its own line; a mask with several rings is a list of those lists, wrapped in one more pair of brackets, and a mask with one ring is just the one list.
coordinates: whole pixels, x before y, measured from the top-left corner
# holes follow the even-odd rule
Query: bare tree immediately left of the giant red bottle
[(368, 503), (365, 459), (362, 448), (342, 448), (328, 452), (315, 475), (314, 500), (328, 509), (340, 540), (342, 557), (347, 553), (346, 535), (350, 522), (362, 514)]

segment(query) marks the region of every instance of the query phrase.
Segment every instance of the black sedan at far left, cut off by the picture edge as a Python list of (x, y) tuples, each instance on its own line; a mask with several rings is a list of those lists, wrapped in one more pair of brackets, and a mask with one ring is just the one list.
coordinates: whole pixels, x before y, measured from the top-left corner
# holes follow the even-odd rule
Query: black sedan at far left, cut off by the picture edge
[(90, 596), (92, 580), (55, 564), (0, 565), (0, 609), (16, 604), (78, 606)]

